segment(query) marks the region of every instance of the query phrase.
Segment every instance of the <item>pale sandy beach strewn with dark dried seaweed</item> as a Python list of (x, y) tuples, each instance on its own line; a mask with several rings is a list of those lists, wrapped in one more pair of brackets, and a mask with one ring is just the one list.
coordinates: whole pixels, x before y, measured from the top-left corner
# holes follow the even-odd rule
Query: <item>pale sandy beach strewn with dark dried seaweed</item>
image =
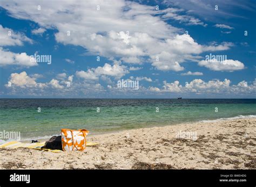
[[(185, 138), (177, 137), (180, 131)], [(87, 141), (99, 145), (69, 153), (3, 148), (0, 169), (256, 168), (255, 118), (131, 129)]]

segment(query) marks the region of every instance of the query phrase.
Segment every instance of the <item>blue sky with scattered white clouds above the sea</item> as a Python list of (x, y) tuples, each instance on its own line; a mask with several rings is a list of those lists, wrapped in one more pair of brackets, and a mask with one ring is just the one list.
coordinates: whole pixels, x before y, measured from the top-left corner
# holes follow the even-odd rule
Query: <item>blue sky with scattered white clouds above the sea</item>
[[(1, 1), (0, 95), (255, 98), (255, 8), (253, 1)], [(31, 61), (34, 54), (51, 63)], [(210, 54), (226, 59), (207, 61)], [(118, 87), (122, 79), (139, 89)]]

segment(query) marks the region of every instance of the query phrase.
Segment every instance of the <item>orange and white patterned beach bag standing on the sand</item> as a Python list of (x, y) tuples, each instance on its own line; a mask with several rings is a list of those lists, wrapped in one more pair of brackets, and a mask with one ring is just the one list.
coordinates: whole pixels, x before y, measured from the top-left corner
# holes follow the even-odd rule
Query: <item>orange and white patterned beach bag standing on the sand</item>
[(86, 135), (89, 130), (79, 129), (62, 129), (62, 150), (72, 151), (79, 150), (83, 151), (86, 147)]

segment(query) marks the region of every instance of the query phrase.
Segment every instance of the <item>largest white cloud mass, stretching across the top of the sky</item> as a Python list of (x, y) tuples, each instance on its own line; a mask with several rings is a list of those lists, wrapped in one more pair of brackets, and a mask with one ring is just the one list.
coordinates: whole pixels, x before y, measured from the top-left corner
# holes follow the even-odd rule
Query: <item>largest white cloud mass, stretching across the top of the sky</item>
[[(122, 63), (150, 62), (163, 71), (182, 71), (181, 63), (197, 58), (198, 54), (227, 50), (231, 46), (228, 43), (204, 46), (190, 35), (180, 34), (181, 29), (165, 22), (164, 16), (173, 17), (167, 13), (174, 13), (175, 19), (185, 20), (188, 24), (204, 23), (192, 16), (179, 15), (180, 10), (174, 8), (157, 11), (155, 6), (124, 0), (111, 4), (107, 1), (41, 2), (44, 7), (41, 11), (35, 9), (36, 2), (1, 1), (0, 5), (15, 18), (29, 19), (46, 29), (56, 29), (55, 38), (59, 43), (82, 46), (90, 54)], [(105, 68), (107, 71), (108, 67)], [(111, 72), (107, 74), (111, 75)]]

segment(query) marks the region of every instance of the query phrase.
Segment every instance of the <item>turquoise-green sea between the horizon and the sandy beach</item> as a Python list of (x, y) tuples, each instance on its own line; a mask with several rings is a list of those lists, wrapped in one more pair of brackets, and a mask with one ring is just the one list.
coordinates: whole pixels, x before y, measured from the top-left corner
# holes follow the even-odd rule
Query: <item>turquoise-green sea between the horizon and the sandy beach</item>
[(255, 103), (255, 99), (0, 99), (0, 131), (21, 131), (22, 140), (30, 140), (60, 134), (61, 128), (85, 128), (96, 134), (237, 116), (256, 117)]

